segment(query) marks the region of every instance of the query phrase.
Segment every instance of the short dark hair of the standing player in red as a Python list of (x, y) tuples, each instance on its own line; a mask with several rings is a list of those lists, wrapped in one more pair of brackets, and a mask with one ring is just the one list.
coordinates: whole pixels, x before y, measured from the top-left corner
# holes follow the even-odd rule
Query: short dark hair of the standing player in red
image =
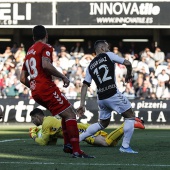
[(47, 31), (43, 25), (36, 25), (32, 33), (35, 41), (42, 40), (47, 35)]

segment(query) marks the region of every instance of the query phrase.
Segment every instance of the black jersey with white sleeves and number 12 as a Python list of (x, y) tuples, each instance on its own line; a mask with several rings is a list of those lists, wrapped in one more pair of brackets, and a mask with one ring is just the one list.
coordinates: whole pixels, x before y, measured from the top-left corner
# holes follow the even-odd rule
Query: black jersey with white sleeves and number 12
[(95, 81), (99, 100), (117, 93), (115, 63), (123, 64), (124, 60), (113, 52), (106, 52), (97, 55), (90, 62), (83, 83), (90, 86), (92, 79)]

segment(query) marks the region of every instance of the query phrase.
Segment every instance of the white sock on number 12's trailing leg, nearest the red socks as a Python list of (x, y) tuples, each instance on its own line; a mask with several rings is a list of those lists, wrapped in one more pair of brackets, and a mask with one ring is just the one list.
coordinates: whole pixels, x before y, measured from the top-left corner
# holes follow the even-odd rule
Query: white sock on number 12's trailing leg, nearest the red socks
[(83, 132), (79, 135), (79, 141), (81, 142), (82, 140), (86, 139), (87, 137), (94, 135), (97, 131), (99, 131), (101, 129), (104, 129), (104, 128), (99, 123), (91, 124), (86, 129), (85, 132)]

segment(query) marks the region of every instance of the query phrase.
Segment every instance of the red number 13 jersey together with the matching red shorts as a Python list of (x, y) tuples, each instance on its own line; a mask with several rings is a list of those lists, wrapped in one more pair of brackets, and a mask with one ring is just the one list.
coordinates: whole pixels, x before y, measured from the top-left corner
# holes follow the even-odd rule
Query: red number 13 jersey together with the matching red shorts
[(42, 57), (50, 59), (52, 63), (52, 52), (53, 48), (50, 45), (42, 42), (35, 43), (29, 48), (22, 69), (30, 75), (33, 99), (55, 116), (71, 104), (54, 84), (51, 75), (42, 67)]

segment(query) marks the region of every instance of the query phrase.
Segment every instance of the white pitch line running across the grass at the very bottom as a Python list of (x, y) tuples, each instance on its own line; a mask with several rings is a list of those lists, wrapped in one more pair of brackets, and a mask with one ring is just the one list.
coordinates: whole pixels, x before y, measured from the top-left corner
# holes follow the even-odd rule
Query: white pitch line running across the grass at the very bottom
[(170, 165), (156, 164), (96, 164), (96, 163), (54, 163), (54, 162), (0, 162), (0, 164), (24, 164), (24, 165), (80, 165), (80, 166), (142, 166), (142, 167), (170, 167)]

